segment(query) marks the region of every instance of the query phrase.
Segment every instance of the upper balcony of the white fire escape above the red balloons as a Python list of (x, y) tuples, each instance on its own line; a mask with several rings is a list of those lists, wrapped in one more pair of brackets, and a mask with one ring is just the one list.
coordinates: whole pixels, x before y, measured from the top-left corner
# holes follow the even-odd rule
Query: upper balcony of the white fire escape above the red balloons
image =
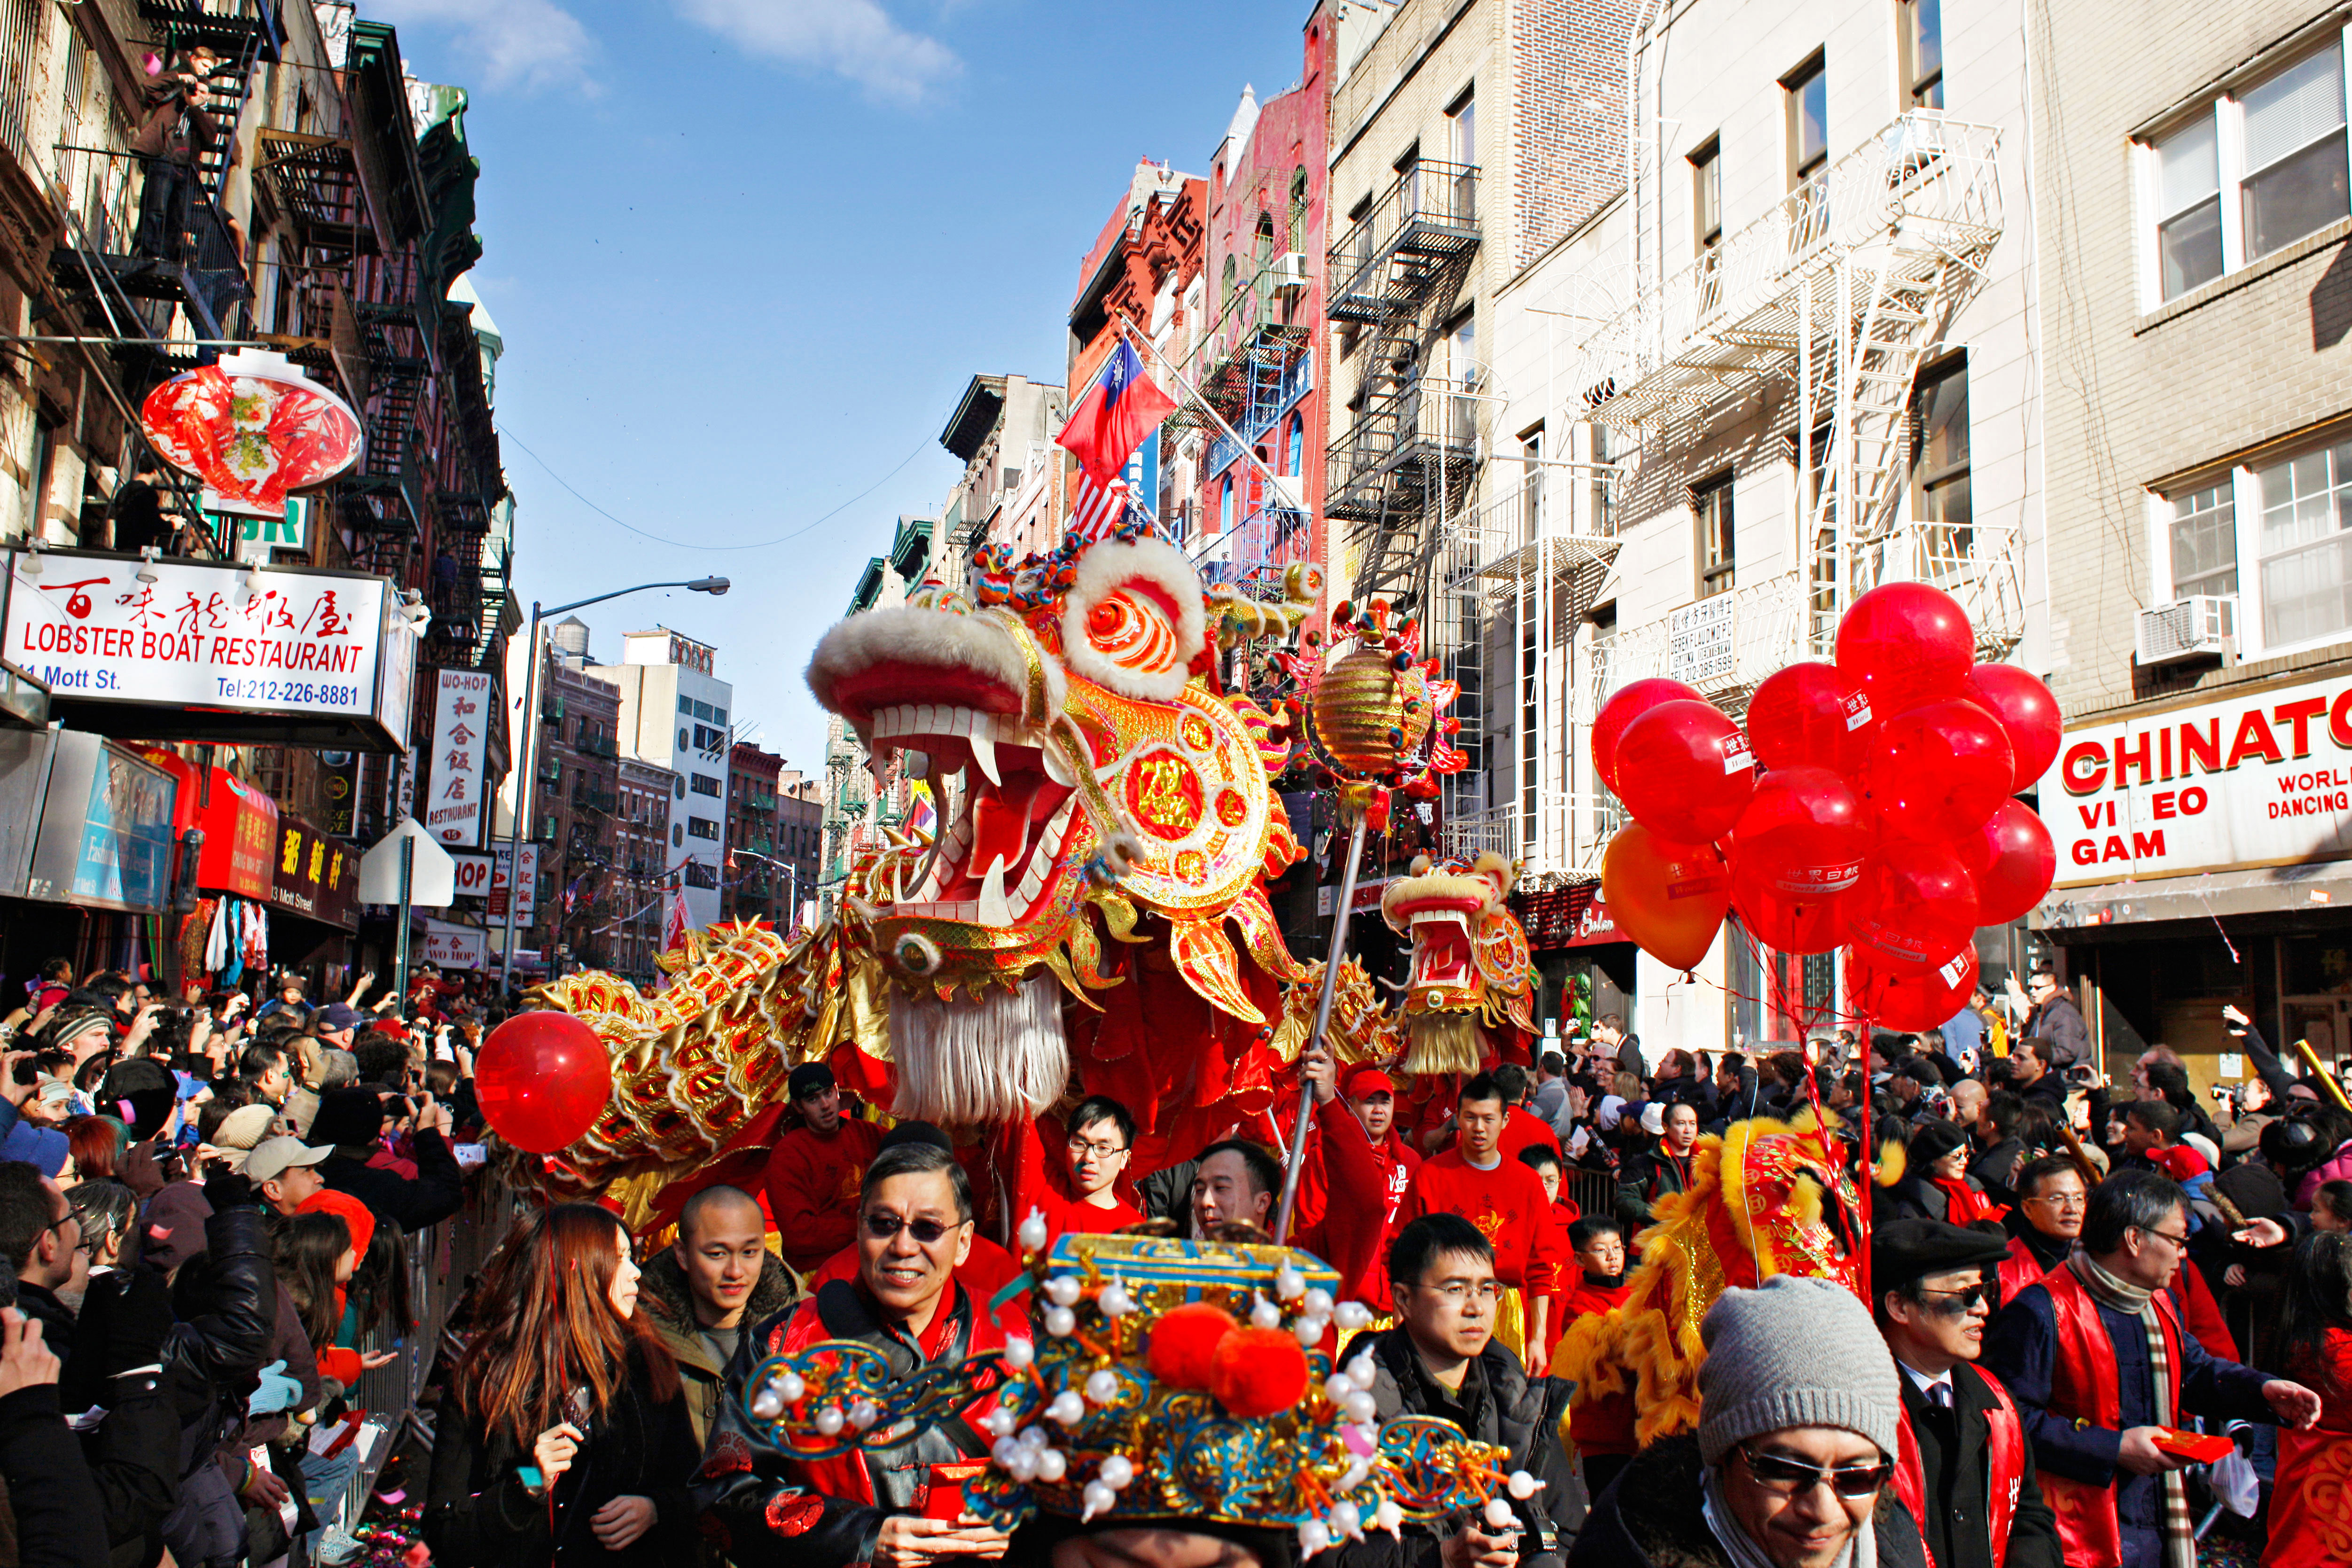
[(1797, 282), (1856, 252), (1980, 266), (2002, 235), (1997, 148), (1990, 125), (1896, 118), (1595, 331), (1573, 378), (1592, 418), (1710, 407), (1773, 374), (1799, 346)]

